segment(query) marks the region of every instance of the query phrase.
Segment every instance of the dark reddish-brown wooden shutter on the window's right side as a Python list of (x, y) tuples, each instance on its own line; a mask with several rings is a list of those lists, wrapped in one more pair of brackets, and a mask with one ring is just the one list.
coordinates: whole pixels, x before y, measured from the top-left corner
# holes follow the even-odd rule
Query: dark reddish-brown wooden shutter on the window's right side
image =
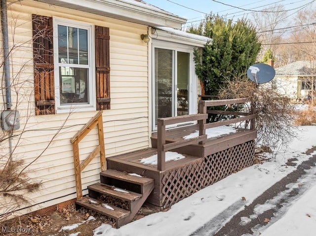
[(95, 26), (97, 110), (110, 109), (110, 29)]

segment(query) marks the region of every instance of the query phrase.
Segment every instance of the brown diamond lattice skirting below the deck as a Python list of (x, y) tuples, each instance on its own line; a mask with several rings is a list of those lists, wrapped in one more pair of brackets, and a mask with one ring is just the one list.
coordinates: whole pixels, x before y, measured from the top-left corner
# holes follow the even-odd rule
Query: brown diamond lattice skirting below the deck
[(214, 153), (203, 161), (163, 172), (162, 207), (189, 197), (226, 176), (253, 165), (254, 141), (248, 141)]

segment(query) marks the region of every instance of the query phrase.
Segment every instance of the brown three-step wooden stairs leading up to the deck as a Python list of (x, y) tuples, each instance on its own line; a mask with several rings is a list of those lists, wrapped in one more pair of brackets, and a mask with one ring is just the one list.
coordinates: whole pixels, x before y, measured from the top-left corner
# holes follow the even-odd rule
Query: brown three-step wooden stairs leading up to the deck
[[(154, 189), (154, 179), (130, 175), (114, 169), (100, 173), (101, 183), (88, 186), (89, 195), (76, 201), (77, 207), (86, 207), (111, 217), (119, 228), (132, 221)], [(103, 202), (100, 197), (110, 196), (128, 203), (128, 210)]]

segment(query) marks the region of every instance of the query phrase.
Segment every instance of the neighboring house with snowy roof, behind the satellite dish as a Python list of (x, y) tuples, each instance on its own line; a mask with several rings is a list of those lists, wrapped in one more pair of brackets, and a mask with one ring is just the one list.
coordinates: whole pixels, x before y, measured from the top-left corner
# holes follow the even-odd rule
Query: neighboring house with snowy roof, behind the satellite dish
[(272, 85), (292, 99), (307, 99), (315, 91), (316, 61), (297, 61), (276, 68)]

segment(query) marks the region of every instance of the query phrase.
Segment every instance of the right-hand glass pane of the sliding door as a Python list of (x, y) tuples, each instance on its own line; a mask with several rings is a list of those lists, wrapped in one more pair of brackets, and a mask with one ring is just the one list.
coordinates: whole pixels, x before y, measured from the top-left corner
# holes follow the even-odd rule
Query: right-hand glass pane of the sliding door
[(190, 53), (177, 53), (177, 116), (189, 114)]

